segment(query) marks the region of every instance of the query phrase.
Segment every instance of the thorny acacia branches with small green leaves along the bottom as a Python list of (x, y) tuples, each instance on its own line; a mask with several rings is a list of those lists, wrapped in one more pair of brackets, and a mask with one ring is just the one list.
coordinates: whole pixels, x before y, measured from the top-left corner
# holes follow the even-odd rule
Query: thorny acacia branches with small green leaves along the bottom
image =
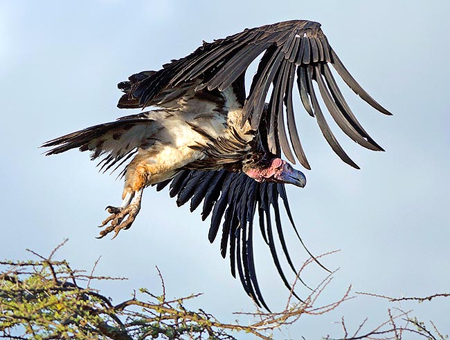
[[(134, 292), (132, 299), (114, 304), (109, 297), (93, 289), (91, 281), (125, 278), (96, 276), (94, 271), (98, 261), (89, 275), (84, 274), (84, 271), (72, 270), (66, 261), (53, 260), (56, 249), (48, 257), (30, 251), (39, 258), (39, 261), (0, 262), (0, 265), (6, 267), (5, 270), (0, 270), (0, 337), (21, 340), (38, 337), (48, 340), (69, 338), (80, 340), (226, 340), (234, 339), (230, 332), (246, 332), (253, 334), (255, 338), (268, 340), (272, 339), (274, 330), (291, 325), (303, 314), (324, 314), (353, 298), (350, 296), (350, 286), (338, 301), (316, 306), (318, 296), (323, 294), (327, 285), (332, 281), (333, 272), (312, 290), (305, 302), (291, 303), (291, 292), (285, 310), (282, 312), (265, 313), (258, 309), (253, 313), (240, 312), (235, 314), (257, 317), (258, 321), (249, 325), (242, 325), (238, 321), (222, 323), (204, 310), (190, 311), (184, 306), (186, 300), (194, 299), (199, 294), (191, 294), (168, 301), (163, 276), (157, 267), (156, 270), (162, 285), (161, 295), (152, 294), (145, 288), (141, 288), (139, 291), (147, 299), (150, 299), (149, 301), (142, 301)], [(308, 263), (312, 263), (312, 261), (306, 261), (301, 270)], [(298, 276), (294, 286), (298, 282)], [(86, 287), (80, 285), (79, 282), (84, 283)], [(377, 294), (358, 294), (377, 296), (390, 301), (415, 300), (419, 302), (435, 299), (438, 296), (449, 296), (449, 294), (434, 294), (424, 298), (393, 299)], [(342, 318), (342, 339), (400, 340), (404, 332), (410, 332), (425, 339), (445, 339), (438, 332), (434, 323), (431, 323), (431, 327), (426, 327), (424, 323), (409, 317), (408, 313), (396, 309), (393, 314), (388, 310), (387, 321), (370, 331), (363, 331), (368, 324), (366, 322), (368, 318), (366, 318), (359, 324), (351, 337), (349, 337), (350, 328), (345, 325)], [(19, 334), (18, 328), (25, 330), (23, 334)]]

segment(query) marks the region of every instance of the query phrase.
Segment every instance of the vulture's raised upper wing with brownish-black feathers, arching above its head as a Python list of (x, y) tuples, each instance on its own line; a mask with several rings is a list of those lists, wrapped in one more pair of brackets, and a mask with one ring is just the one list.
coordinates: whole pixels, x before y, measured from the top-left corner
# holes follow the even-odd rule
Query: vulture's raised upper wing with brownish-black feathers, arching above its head
[(316, 117), (325, 139), (344, 162), (359, 169), (343, 151), (328, 126), (318, 104), (313, 82), (316, 82), (327, 110), (345, 134), (363, 147), (383, 150), (354, 117), (336, 85), (329, 64), (363, 100), (381, 113), (390, 113), (350, 75), (328, 44), (320, 23), (314, 21), (274, 23), (204, 43), (187, 57), (165, 64), (161, 70), (136, 81), (129, 89), (129, 98), (141, 107), (158, 105), (162, 93), (170, 93), (171, 88), (197, 78), (201, 79), (197, 90), (207, 87), (209, 90), (217, 88), (224, 91), (235, 84), (236, 79), (244, 75), (251, 62), (262, 53), (264, 55), (243, 107), (242, 122), (249, 119), (253, 129), (260, 127), (264, 102), (272, 85), (268, 115), (264, 120), (272, 153), (279, 154), (282, 151), (291, 162), (295, 163), (295, 158), (298, 158), (305, 168), (310, 169), (294, 118), (292, 90), (295, 77), (303, 106), (309, 115)]

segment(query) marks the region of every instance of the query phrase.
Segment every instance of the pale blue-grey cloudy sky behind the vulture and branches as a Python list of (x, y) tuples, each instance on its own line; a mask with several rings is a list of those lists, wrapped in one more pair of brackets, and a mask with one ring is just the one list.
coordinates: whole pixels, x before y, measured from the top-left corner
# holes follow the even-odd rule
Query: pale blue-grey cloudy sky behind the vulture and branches
[[(96, 226), (107, 205), (120, 203), (123, 183), (98, 173), (87, 153), (44, 157), (38, 147), (131, 114), (116, 108), (116, 84), (188, 55), (202, 40), (311, 19), (322, 23), (352, 75), (394, 113), (381, 115), (344, 91), (386, 149), (367, 151), (334, 129), (360, 165), (357, 171), (334, 155), (298, 106), (312, 171), (305, 171), (307, 187), (289, 188), (294, 218), (314, 254), (341, 249), (323, 260), (340, 270), (319, 302), (340, 299), (350, 284), (353, 291), (390, 296), (449, 292), (449, 15), (449, 1), (0, 1), (0, 257), (28, 258), (26, 248), (48, 254), (69, 238), (60, 257), (73, 267), (90, 270), (101, 255), (97, 274), (129, 278), (98, 285), (116, 302), (138, 287), (159, 292), (158, 265), (170, 296), (204, 292), (190, 308), (224, 321), (236, 318), (233, 311), (254, 311), (219, 244), (208, 242), (208, 221), (201, 222), (197, 211), (177, 208), (167, 191), (148, 188), (132, 228), (115, 240), (97, 240)], [(307, 259), (298, 243), (289, 245), (296, 263)], [(257, 251), (263, 294), (279, 310), (288, 292), (269, 249)], [(327, 273), (311, 265), (304, 274), (314, 286)], [(307, 291), (299, 287), (299, 293)], [(340, 337), (342, 316), (350, 331), (366, 317), (375, 327), (393, 307), (398, 305), (358, 296), (328, 314), (302, 317), (275, 337)], [(400, 307), (450, 333), (448, 299)]]

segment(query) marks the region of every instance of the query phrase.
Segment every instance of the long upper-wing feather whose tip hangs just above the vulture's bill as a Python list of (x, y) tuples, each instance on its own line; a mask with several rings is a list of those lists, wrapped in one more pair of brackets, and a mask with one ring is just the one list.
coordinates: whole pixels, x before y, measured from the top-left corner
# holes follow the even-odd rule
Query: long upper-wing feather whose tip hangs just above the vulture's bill
[(303, 151), (302, 144), (300, 143), (300, 138), (298, 137), (296, 120), (294, 117), (294, 105), (292, 104), (292, 87), (294, 86), (294, 77), (296, 73), (296, 66), (294, 64), (289, 64), (289, 84), (287, 84), (285, 93), (285, 104), (287, 113), (287, 128), (289, 129), (289, 136), (291, 138), (292, 148), (296, 154), (300, 164), (306, 169), (311, 169), (309, 162), (306, 158), (305, 151)]

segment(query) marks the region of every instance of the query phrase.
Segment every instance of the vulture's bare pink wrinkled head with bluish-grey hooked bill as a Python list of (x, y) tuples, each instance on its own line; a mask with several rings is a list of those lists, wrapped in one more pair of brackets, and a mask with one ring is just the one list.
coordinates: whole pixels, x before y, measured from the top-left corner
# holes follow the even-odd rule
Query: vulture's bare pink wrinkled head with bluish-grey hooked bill
[(300, 188), (306, 185), (305, 174), (281, 158), (261, 162), (256, 167), (244, 169), (244, 172), (257, 182), (290, 183)]

